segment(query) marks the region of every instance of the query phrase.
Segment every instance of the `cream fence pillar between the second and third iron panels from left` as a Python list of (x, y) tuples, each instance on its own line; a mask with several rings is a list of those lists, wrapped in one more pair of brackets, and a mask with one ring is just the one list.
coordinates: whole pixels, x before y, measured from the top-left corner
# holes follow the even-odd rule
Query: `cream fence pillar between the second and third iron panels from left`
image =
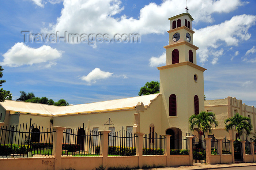
[(99, 130), (101, 135), (100, 145), (99, 148), (99, 155), (102, 156), (102, 165), (108, 169), (108, 140), (109, 140), (109, 132), (108, 130)]

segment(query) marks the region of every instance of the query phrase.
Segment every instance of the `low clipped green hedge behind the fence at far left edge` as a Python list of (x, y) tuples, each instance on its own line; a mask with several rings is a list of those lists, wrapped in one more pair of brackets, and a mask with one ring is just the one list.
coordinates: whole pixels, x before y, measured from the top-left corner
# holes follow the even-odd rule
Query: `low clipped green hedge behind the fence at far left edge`
[(3, 156), (10, 154), (27, 154), (27, 147), (27, 145), (21, 144), (1, 144), (0, 155)]

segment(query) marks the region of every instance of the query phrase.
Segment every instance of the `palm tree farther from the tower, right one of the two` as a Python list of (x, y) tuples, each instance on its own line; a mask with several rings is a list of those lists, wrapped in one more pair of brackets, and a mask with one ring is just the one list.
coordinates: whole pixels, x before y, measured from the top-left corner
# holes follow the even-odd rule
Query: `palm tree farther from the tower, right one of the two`
[(239, 113), (236, 113), (233, 117), (227, 118), (224, 123), (227, 132), (229, 132), (229, 129), (236, 129), (239, 139), (244, 130), (246, 131), (246, 136), (248, 136), (253, 129), (251, 118), (242, 116)]

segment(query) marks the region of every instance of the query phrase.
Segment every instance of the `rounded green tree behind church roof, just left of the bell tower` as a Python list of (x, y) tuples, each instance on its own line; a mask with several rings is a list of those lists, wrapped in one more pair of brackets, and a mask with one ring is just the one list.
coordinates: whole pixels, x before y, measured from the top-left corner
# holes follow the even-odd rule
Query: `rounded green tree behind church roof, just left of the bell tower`
[(151, 81), (147, 82), (143, 87), (140, 88), (139, 96), (159, 93), (159, 82)]

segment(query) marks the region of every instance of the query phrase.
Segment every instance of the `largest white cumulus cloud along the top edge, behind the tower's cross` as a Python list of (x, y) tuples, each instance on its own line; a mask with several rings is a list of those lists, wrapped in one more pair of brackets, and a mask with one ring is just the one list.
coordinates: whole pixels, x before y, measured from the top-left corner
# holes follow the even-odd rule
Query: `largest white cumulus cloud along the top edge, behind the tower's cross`
[[(212, 22), (213, 13), (227, 13), (244, 4), (242, 0), (190, 0), (188, 2), (195, 22)], [(78, 8), (79, 7), (79, 8)], [(167, 18), (184, 13), (180, 0), (163, 0), (161, 4), (149, 3), (140, 9), (138, 18), (116, 14), (124, 10), (121, 0), (64, 0), (61, 16), (56, 24), (49, 24), (46, 32), (130, 34), (165, 33), (169, 28)]]

